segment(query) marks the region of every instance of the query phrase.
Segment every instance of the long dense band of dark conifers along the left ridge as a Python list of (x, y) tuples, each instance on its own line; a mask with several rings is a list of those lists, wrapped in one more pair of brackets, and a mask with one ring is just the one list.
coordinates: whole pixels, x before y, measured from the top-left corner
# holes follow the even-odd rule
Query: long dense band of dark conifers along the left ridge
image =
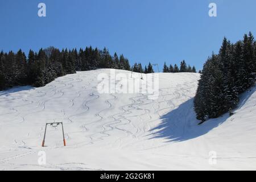
[[(40, 49), (38, 53), (30, 50), (28, 58), (20, 49), (17, 53), (0, 53), (0, 90), (18, 85), (44, 86), (55, 78), (76, 71), (89, 71), (98, 68), (115, 68), (130, 71), (129, 60), (125, 56), (112, 57), (108, 49), (102, 51), (91, 46), (85, 50), (54, 47)], [(141, 64), (140, 71), (143, 72)]]

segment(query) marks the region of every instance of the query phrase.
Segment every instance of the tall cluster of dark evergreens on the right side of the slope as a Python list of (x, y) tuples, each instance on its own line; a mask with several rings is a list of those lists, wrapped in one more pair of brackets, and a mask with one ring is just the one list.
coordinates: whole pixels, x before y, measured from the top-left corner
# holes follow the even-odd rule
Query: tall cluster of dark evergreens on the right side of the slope
[(236, 44), (224, 38), (218, 55), (209, 57), (194, 100), (197, 119), (232, 114), (239, 94), (255, 84), (255, 45), (251, 32)]

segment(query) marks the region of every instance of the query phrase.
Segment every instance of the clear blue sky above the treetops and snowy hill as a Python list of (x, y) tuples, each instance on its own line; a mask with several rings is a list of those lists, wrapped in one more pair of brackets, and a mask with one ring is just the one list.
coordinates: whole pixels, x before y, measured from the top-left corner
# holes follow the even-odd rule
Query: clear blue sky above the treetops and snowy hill
[[(38, 3), (47, 16), (39, 18)], [(217, 4), (210, 18), (208, 5)], [(108, 47), (131, 64), (164, 61), (202, 68), (227, 36), (256, 34), (255, 0), (0, 0), (0, 50)]]

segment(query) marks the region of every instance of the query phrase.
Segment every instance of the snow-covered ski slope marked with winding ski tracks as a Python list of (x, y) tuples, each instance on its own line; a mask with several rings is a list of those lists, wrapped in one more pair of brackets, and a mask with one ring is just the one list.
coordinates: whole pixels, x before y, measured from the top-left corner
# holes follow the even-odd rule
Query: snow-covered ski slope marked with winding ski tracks
[[(110, 76), (110, 69), (0, 92), (0, 169), (256, 169), (255, 88), (243, 94), (234, 115), (198, 126), (193, 97), (199, 74), (159, 73), (159, 97), (152, 100), (141, 93), (98, 93), (100, 73)], [(64, 123), (66, 147), (61, 127), (48, 127), (41, 147), (47, 122)], [(46, 164), (38, 163), (40, 151)]]

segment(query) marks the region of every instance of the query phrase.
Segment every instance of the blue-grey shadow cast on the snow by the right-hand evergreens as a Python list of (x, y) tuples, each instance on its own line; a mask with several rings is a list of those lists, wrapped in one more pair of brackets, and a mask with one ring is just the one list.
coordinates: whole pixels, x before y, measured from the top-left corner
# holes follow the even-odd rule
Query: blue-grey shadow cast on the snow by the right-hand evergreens
[[(240, 104), (237, 109), (240, 109), (245, 104), (247, 99), (255, 91), (252, 89), (250, 93), (247, 91), (241, 96)], [(208, 119), (202, 125), (199, 120), (196, 119), (196, 113), (193, 110), (193, 98), (181, 104), (177, 109), (172, 110), (170, 113), (163, 115), (160, 119), (162, 123), (159, 126), (151, 129), (152, 138), (164, 138), (167, 142), (181, 142), (193, 138), (200, 137), (207, 134), (210, 130), (221, 125), (229, 118), (229, 113), (222, 115), (216, 119)]]

